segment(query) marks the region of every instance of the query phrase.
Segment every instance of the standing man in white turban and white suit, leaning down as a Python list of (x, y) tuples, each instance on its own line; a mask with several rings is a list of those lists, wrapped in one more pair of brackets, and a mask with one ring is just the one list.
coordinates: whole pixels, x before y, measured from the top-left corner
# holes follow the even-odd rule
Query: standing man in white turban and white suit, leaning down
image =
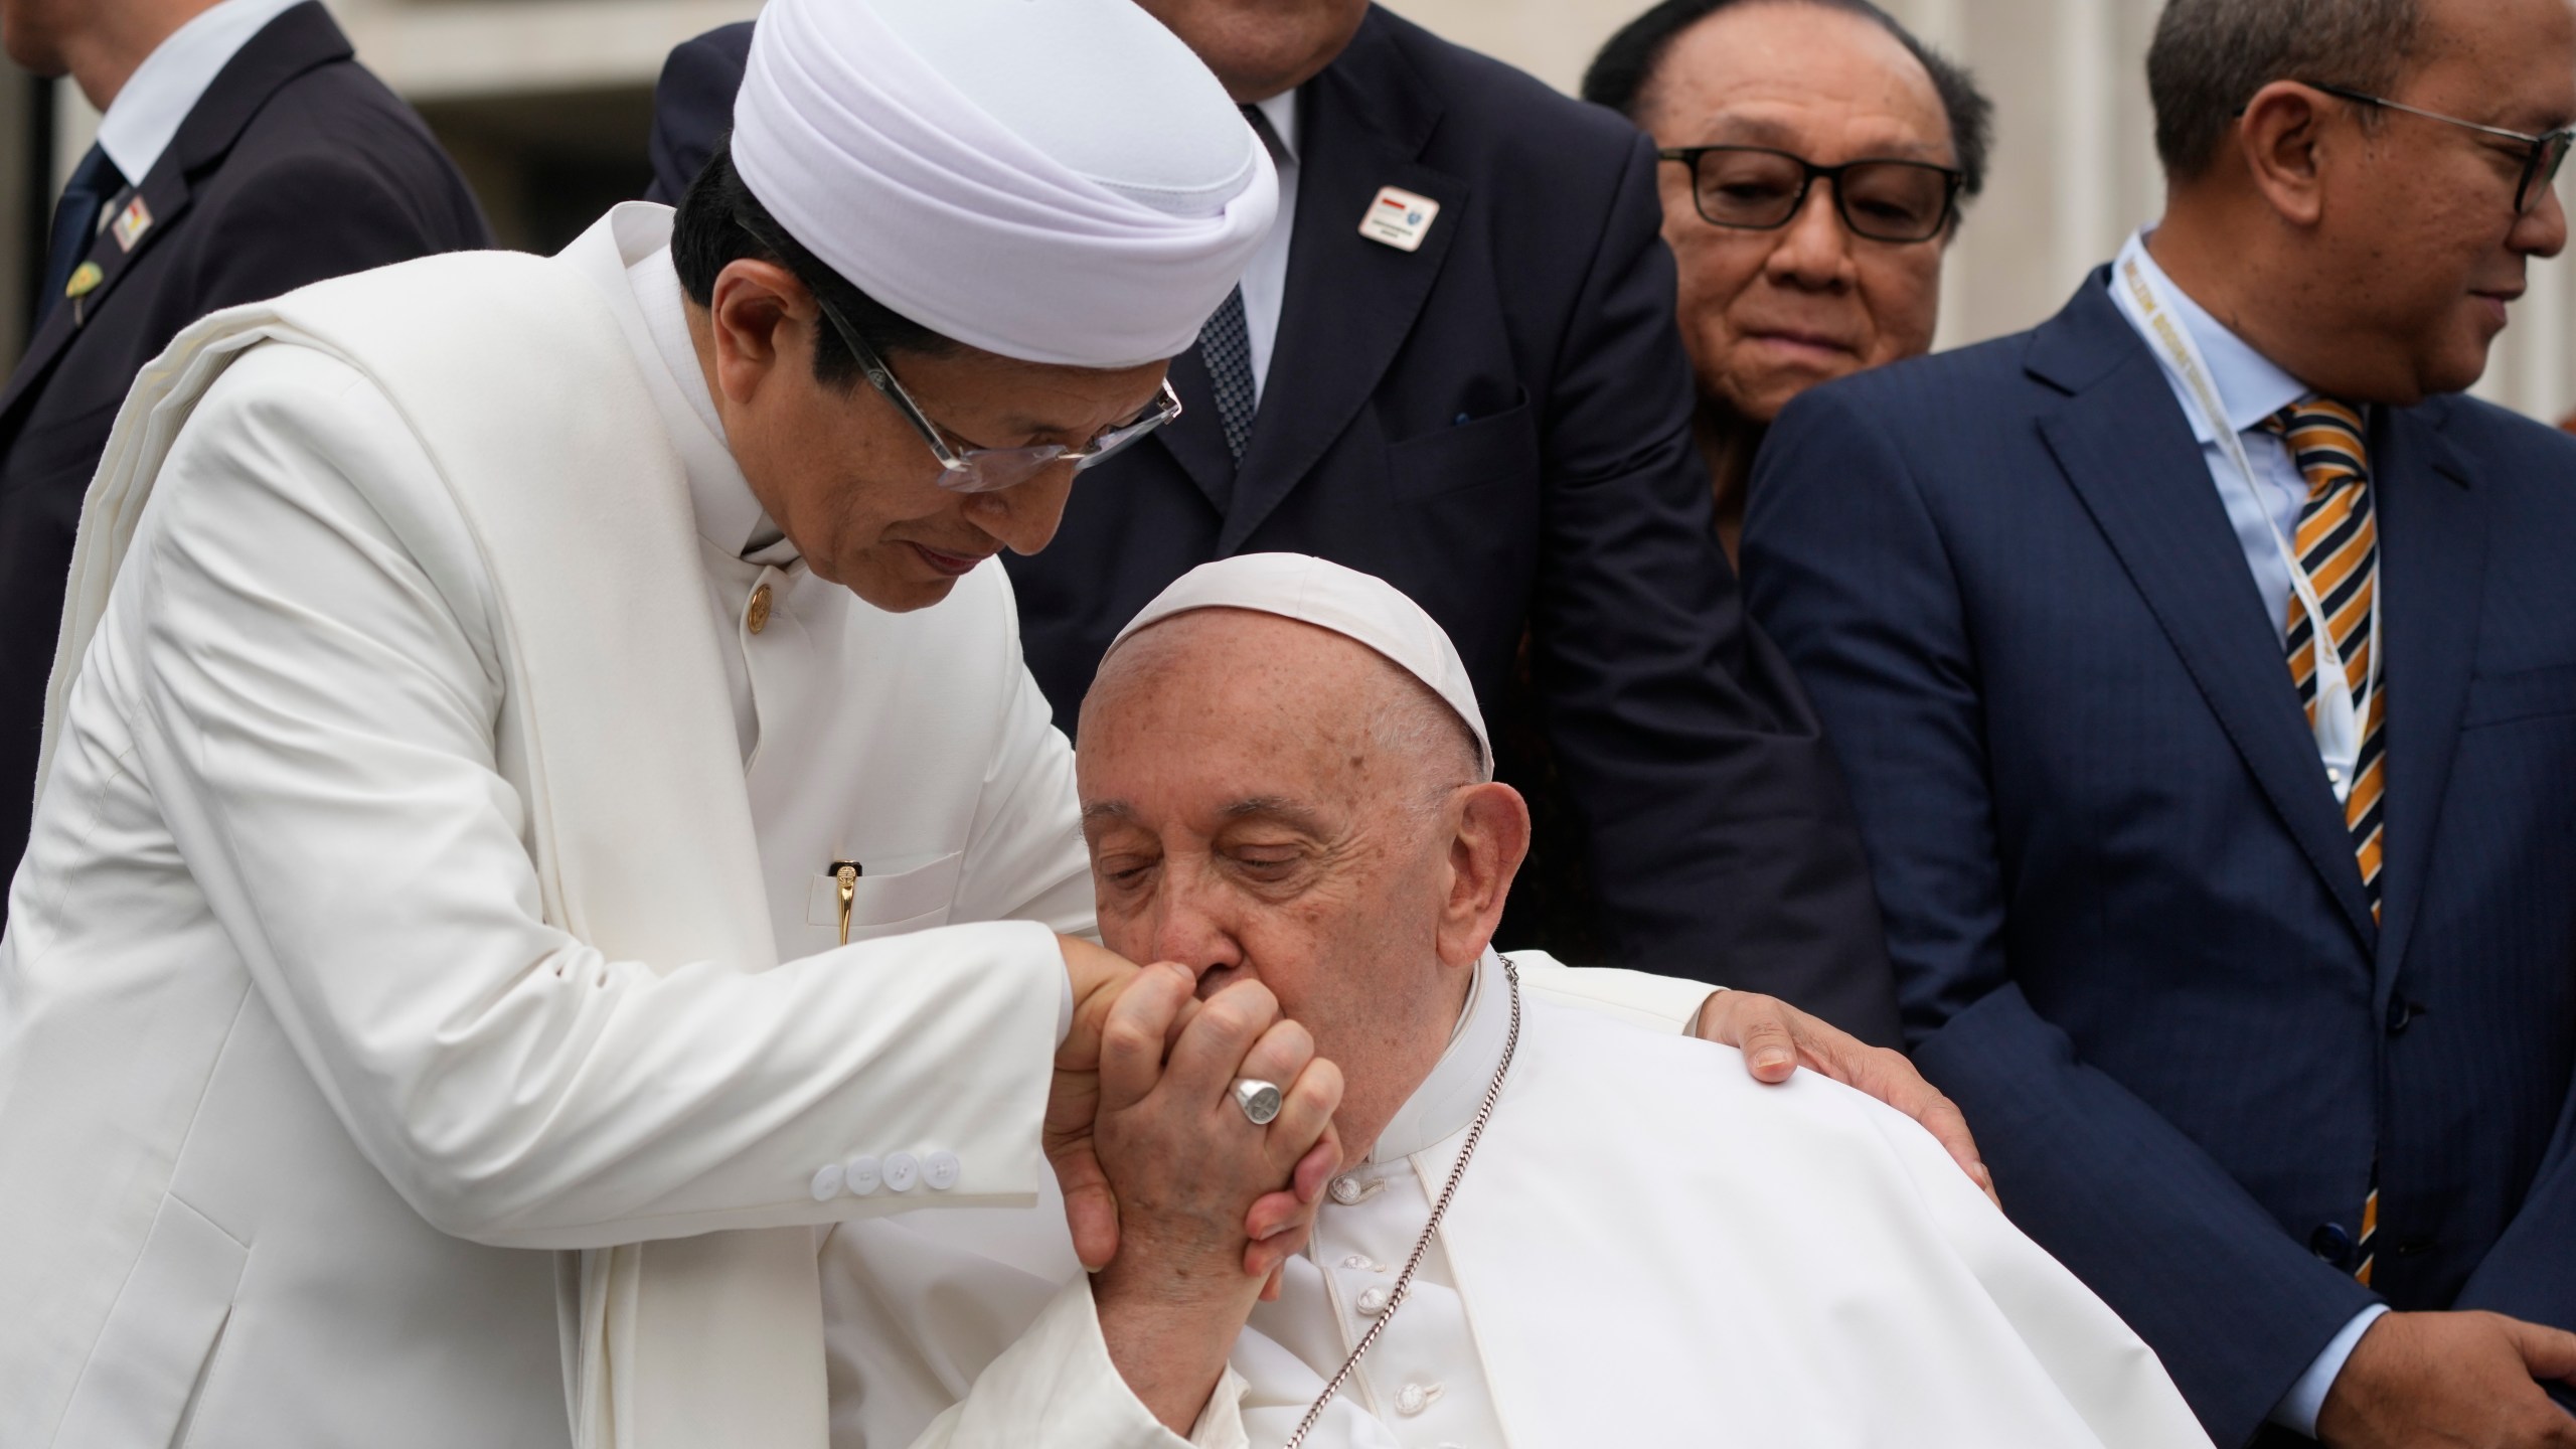
[(677, 214), (137, 382), (0, 938), (0, 1444), (819, 1449), (837, 1225), (1061, 1178), (1110, 1256), (1136, 977), (994, 554), (1172, 415), (1270, 160), (1128, 0), (752, 70)]

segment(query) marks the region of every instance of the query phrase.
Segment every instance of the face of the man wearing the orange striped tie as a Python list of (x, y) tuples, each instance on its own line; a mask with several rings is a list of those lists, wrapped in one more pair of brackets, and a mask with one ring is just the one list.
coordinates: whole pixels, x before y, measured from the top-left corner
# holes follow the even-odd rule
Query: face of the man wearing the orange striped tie
[[(2393, 85), (2442, 116), (2553, 131), (2576, 121), (2576, 15), (2566, 0), (2429, 0), (2424, 64)], [(2514, 214), (2522, 147), (2334, 103), (2318, 144), (2321, 214), (2298, 307), (2339, 340), (2329, 392), (2414, 402), (2486, 371), (2524, 266), (2568, 240), (2555, 191)]]

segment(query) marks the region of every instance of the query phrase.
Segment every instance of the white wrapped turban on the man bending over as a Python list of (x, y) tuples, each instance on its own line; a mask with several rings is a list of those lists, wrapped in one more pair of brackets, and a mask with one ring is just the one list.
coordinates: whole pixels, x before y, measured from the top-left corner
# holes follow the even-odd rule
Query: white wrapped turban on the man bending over
[(770, 0), (732, 150), (853, 286), (1038, 364), (1185, 353), (1278, 214), (1270, 152), (1136, 0)]

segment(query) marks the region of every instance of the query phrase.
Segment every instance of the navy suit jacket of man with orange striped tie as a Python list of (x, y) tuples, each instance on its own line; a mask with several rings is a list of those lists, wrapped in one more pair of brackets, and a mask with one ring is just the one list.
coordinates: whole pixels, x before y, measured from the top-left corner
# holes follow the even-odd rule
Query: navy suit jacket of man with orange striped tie
[[(2287, 601), (2105, 284), (1793, 402), (1744, 572), (1852, 776), (1914, 1060), (2241, 1444), (2372, 1292), (2576, 1328), (2576, 438), (2372, 410), (2372, 923)], [(2365, 1289), (2311, 1243), (2372, 1155)]]

